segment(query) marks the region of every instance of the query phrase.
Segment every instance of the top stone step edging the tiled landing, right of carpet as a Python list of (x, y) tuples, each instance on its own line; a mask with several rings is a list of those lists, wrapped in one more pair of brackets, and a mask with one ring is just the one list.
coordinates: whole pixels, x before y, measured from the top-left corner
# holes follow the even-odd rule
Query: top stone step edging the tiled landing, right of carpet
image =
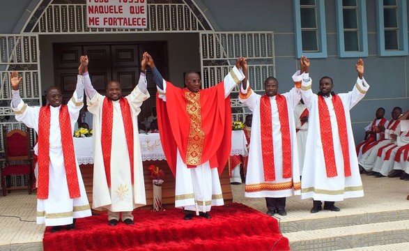
[(353, 215), (341, 215), (340, 212), (334, 213), (330, 211), (321, 211), (319, 213), (316, 213), (314, 216), (323, 216), (323, 218), (313, 218), (308, 220), (302, 219), (285, 222), (280, 221), (280, 231), (284, 234), (295, 231), (311, 231), (317, 229), (330, 229), (333, 227), (348, 227), (380, 222), (409, 220), (409, 209), (373, 213), (362, 212)]

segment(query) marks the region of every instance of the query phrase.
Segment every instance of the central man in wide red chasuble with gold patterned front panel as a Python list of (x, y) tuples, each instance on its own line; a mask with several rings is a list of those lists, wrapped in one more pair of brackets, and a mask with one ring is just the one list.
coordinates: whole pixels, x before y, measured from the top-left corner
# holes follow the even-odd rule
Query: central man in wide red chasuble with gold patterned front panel
[(160, 75), (151, 55), (153, 80), (157, 86), (157, 122), (167, 162), (176, 176), (175, 206), (185, 208), (185, 220), (193, 212), (209, 219), (211, 206), (222, 206), (219, 175), (231, 151), (230, 92), (244, 79), (240, 58), (224, 81), (201, 89), (196, 72), (185, 74), (185, 89)]

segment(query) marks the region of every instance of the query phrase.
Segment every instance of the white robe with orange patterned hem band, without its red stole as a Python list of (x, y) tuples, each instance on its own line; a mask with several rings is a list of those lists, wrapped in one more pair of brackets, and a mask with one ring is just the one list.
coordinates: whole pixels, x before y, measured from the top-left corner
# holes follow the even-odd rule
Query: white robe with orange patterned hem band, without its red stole
[[(249, 91), (241, 89), (242, 93)], [(250, 140), (249, 160), (247, 163), (245, 197), (290, 197), (300, 195), (300, 169), (298, 165), (297, 136), (295, 135), (294, 108), (301, 99), (299, 89), (291, 89), (281, 94), (286, 97), (288, 124), (291, 137), (291, 178), (283, 178), (283, 149), (281, 142), (281, 123), (277, 107), (276, 96), (270, 97), (272, 120), (272, 145), (274, 151), (275, 181), (265, 181), (263, 169), (263, 153), (261, 148), (261, 95), (252, 93), (248, 98), (240, 97), (240, 102), (247, 105), (253, 112), (252, 140)]]

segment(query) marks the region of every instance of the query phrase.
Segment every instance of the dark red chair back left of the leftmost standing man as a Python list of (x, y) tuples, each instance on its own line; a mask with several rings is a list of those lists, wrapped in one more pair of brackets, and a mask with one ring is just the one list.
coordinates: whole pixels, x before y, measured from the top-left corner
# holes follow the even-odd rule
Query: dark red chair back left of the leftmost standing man
[(3, 146), (6, 161), (31, 160), (29, 131), (15, 129), (7, 132), (3, 126)]

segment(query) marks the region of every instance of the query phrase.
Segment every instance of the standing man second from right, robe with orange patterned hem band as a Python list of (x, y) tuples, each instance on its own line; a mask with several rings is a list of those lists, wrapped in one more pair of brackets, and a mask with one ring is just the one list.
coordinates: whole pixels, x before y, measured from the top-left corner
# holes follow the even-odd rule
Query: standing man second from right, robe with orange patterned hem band
[(239, 98), (253, 112), (245, 197), (265, 197), (268, 215), (286, 215), (286, 197), (300, 195), (294, 122), (300, 89), (293, 87), (288, 93), (279, 94), (277, 79), (268, 77), (261, 96), (247, 83), (247, 64), (243, 73), (246, 77)]

